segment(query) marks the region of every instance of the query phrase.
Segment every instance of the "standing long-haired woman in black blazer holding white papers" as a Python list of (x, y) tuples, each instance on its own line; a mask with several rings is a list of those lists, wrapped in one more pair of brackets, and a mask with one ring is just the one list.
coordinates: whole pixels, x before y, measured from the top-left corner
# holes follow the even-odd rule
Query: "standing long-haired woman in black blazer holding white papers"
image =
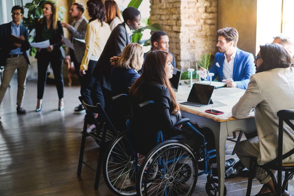
[(62, 77), (62, 59), (64, 58), (60, 46), (61, 35), (63, 35), (63, 29), (60, 21), (58, 21), (58, 11), (56, 5), (48, 1), (43, 8), (43, 18), (39, 19), (36, 24), (36, 36), (35, 41), (50, 41), (50, 46), (44, 49), (37, 48), (36, 59), (38, 63), (38, 101), (36, 112), (41, 111), (42, 99), (44, 94), (44, 88), (47, 79), (47, 68), (49, 62), (53, 69), (54, 80), (59, 97), (58, 110), (64, 109), (63, 94), (64, 94), (64, 82)]

